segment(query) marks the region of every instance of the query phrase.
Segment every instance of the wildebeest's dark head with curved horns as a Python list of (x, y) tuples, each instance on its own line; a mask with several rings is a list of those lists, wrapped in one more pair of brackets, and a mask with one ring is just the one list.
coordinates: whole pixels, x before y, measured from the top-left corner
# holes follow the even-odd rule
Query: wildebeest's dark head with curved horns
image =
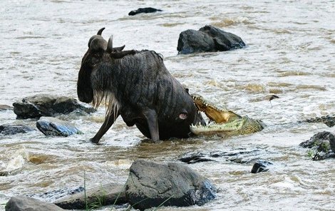
[(111, 57), (118, 58), (125, 46), (113, 48), (113, 36), (110, 36), (108, 42), (101, 36), (102, 28), (98, 33), (88, 41), (88, 50), (81, 61), (81, 69), (78, 74), (77, 94), (79, 101), (91, 103), (93, 101), (93, 88), (91, 85), (91, 73), (96, 63), (100, 61), (104, 53), (108, 53)]

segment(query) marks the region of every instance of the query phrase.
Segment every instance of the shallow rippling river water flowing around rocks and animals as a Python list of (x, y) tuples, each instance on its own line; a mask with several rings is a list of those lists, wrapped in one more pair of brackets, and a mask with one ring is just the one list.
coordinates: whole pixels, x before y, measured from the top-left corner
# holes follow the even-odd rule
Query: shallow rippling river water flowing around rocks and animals
[[(163, 9), (128, 16), (140, 7)], [(246, 159), (267, 160), (266, 173), (251, 174), (253, 163), (227, 159), (188, 165), (218, 188), (202, 207), (161, 210), (334, 210), (334, 159), (312, 161), (299, 143), (327, 130), (321, 123), (285, 123), (335, 113), (335, 1), (32, 1), (0, 2), (0, 105), (37, 93), (76, 96), (76, 81), (88, 39), (105, 27), (114, 46), (163, 54), (165, 66), (190, 93), (199, 93), (240, 115), (262, 119), (259, 133), (220, 135), (160, 144), (143, 143), (137, 128), (118, 119), (93, 145), (104, 106), (87, 116), (65, 118), (83, 135), (46, 137), (31, 132), (0, 136), (0, 209), (13, 195), (68, 187), (123, 183), (138, 158), (179, 162), (185, 153), (249, 151)], [(240, 36), (246, 48), (177, 54), (181, 31), (206, 24)], [(269, 96), (279, 96), (269, 102)], [(0, 124), (24, 123), (12, 110)], [(249, 157), (248, 157), (249, 156)], [(101, 210), (110, 210), (103, 208)]]

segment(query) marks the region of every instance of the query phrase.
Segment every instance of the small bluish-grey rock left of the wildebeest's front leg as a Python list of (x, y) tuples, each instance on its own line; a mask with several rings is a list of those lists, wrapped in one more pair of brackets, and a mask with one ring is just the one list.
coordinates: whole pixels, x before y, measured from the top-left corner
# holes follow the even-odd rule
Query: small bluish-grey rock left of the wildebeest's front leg
[(41, 117), (36, 122), (36, 127), (40, 130), (44, 135), (55, 135), (55, 136), (65, 136), (80, 134), (81, 131), (76, 128), (71, 123), (68, 123), (63, 120), (59, 120), (58, 118), (53, 117)]

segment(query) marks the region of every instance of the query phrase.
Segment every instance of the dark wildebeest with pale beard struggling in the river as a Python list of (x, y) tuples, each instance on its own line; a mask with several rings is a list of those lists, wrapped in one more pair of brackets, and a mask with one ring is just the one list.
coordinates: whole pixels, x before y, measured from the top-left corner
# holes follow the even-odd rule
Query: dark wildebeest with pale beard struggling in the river
[(91, 138), (93, 143), (99, 142), (119, 115), (154, 142), (187, 138), (191, 124), (205, 124), (191, 96), (168, 72), (160, 54), (123, 51), (124, 46), (113, 48), (113, 37), (105, 41), (103, 29), (88, 41), (77, 83), (80, 101), (93, 102), (98, 108), (105, 99), (108, 105), (103, 125)]

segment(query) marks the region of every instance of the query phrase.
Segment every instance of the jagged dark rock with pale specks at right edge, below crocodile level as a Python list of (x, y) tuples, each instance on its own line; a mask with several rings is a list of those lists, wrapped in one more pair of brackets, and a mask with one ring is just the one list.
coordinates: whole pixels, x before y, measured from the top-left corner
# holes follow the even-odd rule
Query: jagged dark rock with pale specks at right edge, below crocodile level
[(299, 146), (310, 148), (309, 155), (313, 160), (335, 158), (335, 136), (333, 133), (327, 131), (316, 133), (309, 140), (300, 143)]

